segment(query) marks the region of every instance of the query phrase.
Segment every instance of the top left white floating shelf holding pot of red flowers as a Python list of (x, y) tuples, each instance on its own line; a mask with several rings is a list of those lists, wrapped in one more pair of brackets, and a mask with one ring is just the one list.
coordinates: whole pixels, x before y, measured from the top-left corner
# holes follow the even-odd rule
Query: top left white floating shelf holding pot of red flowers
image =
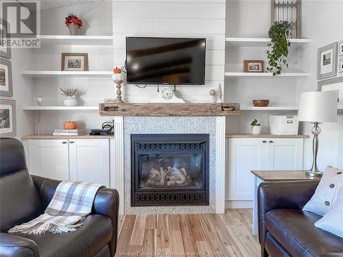
[(113, 45), (113, 36), (41, 35), (41, 45)]

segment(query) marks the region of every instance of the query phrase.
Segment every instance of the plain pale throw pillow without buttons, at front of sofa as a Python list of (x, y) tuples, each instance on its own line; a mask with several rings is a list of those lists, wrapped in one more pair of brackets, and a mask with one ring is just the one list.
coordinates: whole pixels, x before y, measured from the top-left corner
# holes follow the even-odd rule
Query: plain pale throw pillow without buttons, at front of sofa
[(343, 238), (343, 186), (340, 188), (340, 193), (335, 204), (327, 213), (314, 223), (317, 228), (321, 228), (327, 232), (335, 234)]

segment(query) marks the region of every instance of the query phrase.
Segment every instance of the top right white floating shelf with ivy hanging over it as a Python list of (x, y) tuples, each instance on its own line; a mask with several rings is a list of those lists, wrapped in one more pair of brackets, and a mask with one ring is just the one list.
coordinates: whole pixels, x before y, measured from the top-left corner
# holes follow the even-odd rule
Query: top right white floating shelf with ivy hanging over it
[[(226, 38), (226, 42), (231, 45), (237, 45), (239, 47), (267, 47), (267, 44), (271, 42), (270, 38)], [(289, 38), (289, 42), (292, 44), (300, 45), (311, 42), (306, 38)]]

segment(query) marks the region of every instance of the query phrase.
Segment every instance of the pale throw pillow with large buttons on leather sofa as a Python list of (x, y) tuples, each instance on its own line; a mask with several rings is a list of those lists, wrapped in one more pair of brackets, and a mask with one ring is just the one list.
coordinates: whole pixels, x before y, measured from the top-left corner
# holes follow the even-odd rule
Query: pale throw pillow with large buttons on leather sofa
[(304, 206), (303, 210), (324, 216), (331, 206), (335, 204), (338, 197), (338, 190), (342, 184), (343, 170), (328, 166), (324, 171), (324, 175), (322, 175), (316, 192)]

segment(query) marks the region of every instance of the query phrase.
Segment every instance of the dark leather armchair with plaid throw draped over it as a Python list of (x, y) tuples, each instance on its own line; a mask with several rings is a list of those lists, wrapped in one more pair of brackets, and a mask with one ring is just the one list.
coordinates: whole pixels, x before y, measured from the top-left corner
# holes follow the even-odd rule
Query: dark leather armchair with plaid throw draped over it
[[(95, 171), (96, 172), (96, 171)], [(75, 232), (62, 234), (8, 234), (14, 225), (43, 214), (58, 180), (29, 175), (23, 145), (0, 138), (0, 256), (113, 257), (117, 243), (119, 196), (115, 189), (100, 188), (91, 215)]]

